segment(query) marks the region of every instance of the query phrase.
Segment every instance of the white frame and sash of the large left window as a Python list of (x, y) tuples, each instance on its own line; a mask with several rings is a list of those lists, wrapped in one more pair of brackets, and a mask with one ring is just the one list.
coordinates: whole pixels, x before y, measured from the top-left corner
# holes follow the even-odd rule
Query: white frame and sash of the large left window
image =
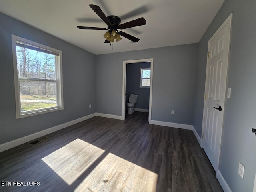
[[(30, 44), (32, 46), (35, 46), (37, 48), (41, 48), (41, 49), (48, 50), (50, 52), (55, 52), (55, 53), (59, 54), (59, 57), (55, 57), (56, 58), (56, 62), (55, 62), (55, 64), (56, 64), (56, 66), (55, 66), (56, 80), (45, 80), (45, 79), (43, 80), (43, 81), (49, 81), (49, 82), (53, 82), (53, 81), (56, 82), (56, 105), (57, 106), (43, 108), (43, 109), (37, 109), (37, 110), (21, 111), (20, 83), (19, 83), (20, 80), (18, 78), (18, 70), (17, 70), (16, 41), (24, 42), (24, 43)], [(64, 105), (63, 105), (63, 84), (62, 84), (62, 51), (12, 34), (12, 56), (13, 56), (13, 68), (14, 68), (16, 118), (17, 119), (24, 118), (24, 117), (28, 117), (28, 116), (44, 114), (44, 113), (53, 112), (53, 111), (57, 111), (57, 110), (63, 110)], [(24, 80), (24, 78), (22, 78), (22, 79)], [(26, 78), (26, 80), (40, 81), (39, 79), (35, 79), (35, 78)]]

